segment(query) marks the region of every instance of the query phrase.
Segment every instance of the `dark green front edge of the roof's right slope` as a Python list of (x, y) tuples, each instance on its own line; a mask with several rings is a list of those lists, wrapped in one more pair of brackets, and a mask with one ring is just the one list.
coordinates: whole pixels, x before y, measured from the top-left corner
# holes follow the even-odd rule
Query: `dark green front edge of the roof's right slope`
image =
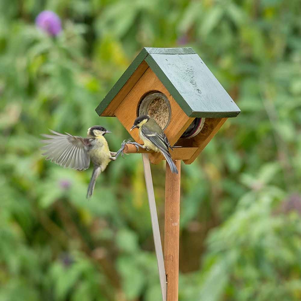
[[(187, 116), (189, 116), (192, 113), (191, 107), (189, 107), (189, 105), (187, 104), (185, 99), (182, 97), (182, 95), (178, 92), (178, 90), (175, 88), (175, 86), (171, 83), (169, 78), (164, 74), (164, 72), (158, 66), (157, 62), (152, 58), (151, 55), (148, 55), (145, 58), (145, 61), (147, 62), (148, 66), (151, 67), (151, 69), (154, 71), (154, 73), (158, 76), (158, 78), (163, 83), (165, 88), (169, 91), (169, 93), (172, 95), (172, 97), (175, 98), (176, 102), (182, 108), (182, 110), (186, 113)], [(166, 96), (168, 97), (169, 95), (166, 95)]]

